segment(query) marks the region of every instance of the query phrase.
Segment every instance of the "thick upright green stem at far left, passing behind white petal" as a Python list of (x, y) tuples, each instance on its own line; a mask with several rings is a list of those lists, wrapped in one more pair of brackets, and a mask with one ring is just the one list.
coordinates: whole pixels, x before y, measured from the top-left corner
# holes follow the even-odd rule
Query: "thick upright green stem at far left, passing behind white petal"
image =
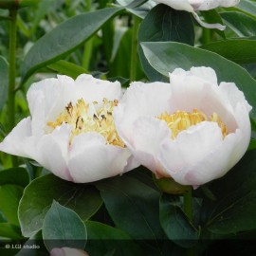
[[(15, 79), (16, 79), (16, 30), (17, 9), (9, 9), (9, 88), (8, 88), (8, 131), (15, 125)], [(12, 156), (12, 165), (17, 158)]]

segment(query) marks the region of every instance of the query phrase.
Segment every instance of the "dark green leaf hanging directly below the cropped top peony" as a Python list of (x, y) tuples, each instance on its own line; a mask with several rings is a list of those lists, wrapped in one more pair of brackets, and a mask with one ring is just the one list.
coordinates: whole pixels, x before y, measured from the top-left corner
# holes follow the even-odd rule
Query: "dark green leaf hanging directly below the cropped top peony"
[[(193, 45), (192, 16), (187, 11), (177, 11), (166, 5), (157, 5), (142, 21), (138, 31), (138, 42), (174, 41)], [(148, 64), (141, 46), (138, 47), (140, 62), (151, 81), (166, 80)]]

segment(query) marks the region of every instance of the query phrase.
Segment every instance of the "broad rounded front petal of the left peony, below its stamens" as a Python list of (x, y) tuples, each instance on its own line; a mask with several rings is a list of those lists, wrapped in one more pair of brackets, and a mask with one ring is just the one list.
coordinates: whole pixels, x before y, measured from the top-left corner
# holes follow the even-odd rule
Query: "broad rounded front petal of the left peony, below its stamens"
[(101, 135), (87, 133), (74, 137), (68, 168), (75, 182), (92, 182), (124, 173), (130, 156), (128, 149), (106, 145)]

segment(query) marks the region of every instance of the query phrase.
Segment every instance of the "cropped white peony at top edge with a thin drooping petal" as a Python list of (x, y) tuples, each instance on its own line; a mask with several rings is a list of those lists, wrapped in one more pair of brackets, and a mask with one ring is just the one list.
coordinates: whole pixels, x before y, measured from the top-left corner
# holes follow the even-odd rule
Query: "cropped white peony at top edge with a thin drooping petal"
[(207, 24), (200, 20), (196, 14), (196, 10), (215, 9), (217, 7), (233, 7), (239, 3), (240, 0), (154, 0), (158, 4), (165, 4), (173, 9), (186, 10), (192, 12), (196, 21), (203, 27), (218, 28), (224, 30), (225, 26), (221, 24)]

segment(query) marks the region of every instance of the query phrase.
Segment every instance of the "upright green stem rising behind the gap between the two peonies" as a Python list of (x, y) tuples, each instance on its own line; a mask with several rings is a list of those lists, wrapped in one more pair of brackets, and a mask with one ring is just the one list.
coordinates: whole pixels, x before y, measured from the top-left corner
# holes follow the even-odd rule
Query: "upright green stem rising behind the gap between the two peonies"
[(134, 27), (132, 35), (132, 55), (131, 55), (131, 66), (130, 66), (130, 81), (136, 81), (137, 76), (137, 30), (139, 27), (139, 18), (134, 16)]

